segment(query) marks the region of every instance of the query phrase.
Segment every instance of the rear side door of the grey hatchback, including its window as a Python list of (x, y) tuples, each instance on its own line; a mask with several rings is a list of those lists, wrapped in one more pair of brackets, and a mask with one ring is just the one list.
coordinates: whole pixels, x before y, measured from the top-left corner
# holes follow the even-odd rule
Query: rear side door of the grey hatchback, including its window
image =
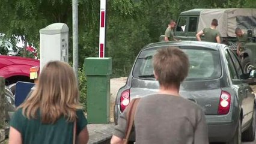
[(243, 124), (249, 124), (252, 118), (252, 112), (254, 109), (254, 94), (251, 87), (245, 80), (242, 80), (240, 76), (243, 75), (243, 69), (240, 65), (239, 59), (230, 49), (228, 50), (230, 53), (231, 59), (233, 60), (234, 67), (236, 69), (236, 73), (239, 76), (240, 82), (242, 83), (242, 108), (243, 108)]

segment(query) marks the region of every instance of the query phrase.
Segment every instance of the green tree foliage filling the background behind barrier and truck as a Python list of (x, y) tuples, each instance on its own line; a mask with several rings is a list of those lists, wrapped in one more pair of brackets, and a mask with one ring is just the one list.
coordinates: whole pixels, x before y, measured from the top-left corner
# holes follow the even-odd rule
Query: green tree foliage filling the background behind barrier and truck
[[(113, 58), (114, 77), (127, 76), (139, 51), (159, 41), (171, 19), (193, 8), (256, 8), (255, 0), (111, 0), (107, 1), (106, 56)], [(79, 66), (98, 56), (100, 1), (79, 0)], [(39, 29), (67, 23), (72, 59), (72, 0), (2, 0), (0, 33), (22, 36), (39, 51)], [(14, 43), (14, 41), (13, 41)], [(0, 49), (1, 50), (1, 49)]]

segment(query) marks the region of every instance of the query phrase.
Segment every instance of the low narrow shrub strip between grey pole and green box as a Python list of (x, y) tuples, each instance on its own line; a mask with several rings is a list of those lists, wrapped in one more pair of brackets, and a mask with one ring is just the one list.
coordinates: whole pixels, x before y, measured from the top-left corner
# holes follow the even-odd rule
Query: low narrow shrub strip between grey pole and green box
[(82, 68), (78, 70), (78, 82), (79, 82), (79, 94), (80, 103), (84, 107), (84, 111), (87, 110), (87, 80), (85, 77), (85, 71)]

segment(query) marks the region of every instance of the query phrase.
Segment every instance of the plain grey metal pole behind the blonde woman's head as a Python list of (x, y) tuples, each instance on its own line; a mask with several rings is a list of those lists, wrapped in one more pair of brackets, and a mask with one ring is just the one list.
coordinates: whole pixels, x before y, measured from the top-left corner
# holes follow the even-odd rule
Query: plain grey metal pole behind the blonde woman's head
[(73, 69), (78, 80), (78, 0), (72, 0), (73, 17)]

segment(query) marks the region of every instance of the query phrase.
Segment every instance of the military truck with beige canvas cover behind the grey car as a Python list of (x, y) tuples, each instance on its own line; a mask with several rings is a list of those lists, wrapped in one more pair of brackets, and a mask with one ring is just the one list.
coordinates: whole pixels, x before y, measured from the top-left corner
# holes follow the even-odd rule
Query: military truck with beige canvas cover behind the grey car
[[(232, 50), (237, 49), (235, 29), (240, 28), (248, 34), (249, 42), (240, 56), (245, 73), (256, 67), (256, 9), (255, 8), (217, 8), (193, 9), (180, 13), (174, 30), (176, 39), (197, 40), (195, 35), (203, 28), (210, 27), (212, 19), (218, 19), (218, 31), (222, 43)], [(160, 36), (160, 41), (164, 40)], [(204, 36), (201, 37), (204, 40)]]

